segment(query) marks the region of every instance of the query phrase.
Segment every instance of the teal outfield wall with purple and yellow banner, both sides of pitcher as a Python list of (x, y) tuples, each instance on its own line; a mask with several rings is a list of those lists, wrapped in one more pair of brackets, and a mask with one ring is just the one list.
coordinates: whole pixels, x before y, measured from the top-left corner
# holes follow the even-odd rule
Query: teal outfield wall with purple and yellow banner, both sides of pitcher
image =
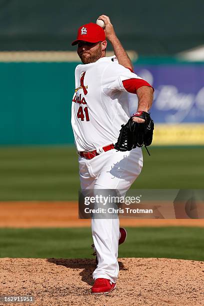
[[(77, 64), (0, 62), (1, 145), (73, 144), (70, 117)], [(203, 67), (171, 57), (134, 62), (134, 71), (155, 89), (153, 144), (204, 144)], [(132, 97), (130, 105), (134, 103)]]

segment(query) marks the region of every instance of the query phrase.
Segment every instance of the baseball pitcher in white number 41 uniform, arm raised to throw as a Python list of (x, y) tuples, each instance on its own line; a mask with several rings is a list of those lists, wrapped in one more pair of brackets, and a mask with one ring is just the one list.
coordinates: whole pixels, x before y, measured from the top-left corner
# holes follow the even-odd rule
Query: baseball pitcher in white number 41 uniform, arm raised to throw
[[(133, 73), (108, 16), (98, 19), (104, 21), (104, 29), (95, 23), (83, 24), (72, 42), (82, 61), (75, 68), (71, 108), (80, 184), (81, 189), (96, 193), (98, 189), (117, 189), (125, 194), (141, 172), (141, 146), (152, 140), (148, 110), (153, 88)], [(106, 39), (115, 56), (105, 56)], [(138, 98), (134, 114), (129, 113), (128, 92)], [(118, 217), (92, 218), (91, 229), (97, 255), (91, 293), (107, 293), (116, 285), (118, 244), (124, 242), (126, 231), (119, 228)]]

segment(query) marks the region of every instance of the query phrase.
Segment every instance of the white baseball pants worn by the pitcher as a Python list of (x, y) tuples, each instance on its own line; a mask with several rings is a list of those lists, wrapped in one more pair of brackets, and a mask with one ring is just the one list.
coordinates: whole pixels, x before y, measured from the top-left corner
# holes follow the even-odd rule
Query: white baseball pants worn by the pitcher
[[(93, 193), (95, 189), (120, 189), (124, 191), (120, 194), (123, 196), (143, 165), (142, 151), (138, 147), (125, 152), (111, 149), (92, 159), (79, 156), (78, 161), (81, 189), (92, 189)], [(91, 230), (98, 259), (97, 267), (92, 273), (93, 279), (108, 278), (116, 282), (119, 271), (119, 219), (92, 218)]]

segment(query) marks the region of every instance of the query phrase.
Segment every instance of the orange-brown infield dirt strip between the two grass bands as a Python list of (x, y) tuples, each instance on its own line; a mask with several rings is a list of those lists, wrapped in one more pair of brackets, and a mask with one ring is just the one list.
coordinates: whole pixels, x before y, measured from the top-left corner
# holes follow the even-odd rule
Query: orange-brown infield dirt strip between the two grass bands
[[(76, 201), (0, 202), (0, 227), (83, 227)], [(120, 219), (121, 226), (204, 226), (204, 219)]]

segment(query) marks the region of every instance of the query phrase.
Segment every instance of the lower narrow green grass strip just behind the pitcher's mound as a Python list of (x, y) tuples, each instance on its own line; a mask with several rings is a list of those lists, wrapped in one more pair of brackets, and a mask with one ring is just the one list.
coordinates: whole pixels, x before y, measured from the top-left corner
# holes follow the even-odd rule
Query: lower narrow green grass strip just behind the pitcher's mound
[[(119, 257), (204, 260), (202, 227), (129, 227)], [(0, 228), (0, 257), (92, 258), (90, 228)]]

